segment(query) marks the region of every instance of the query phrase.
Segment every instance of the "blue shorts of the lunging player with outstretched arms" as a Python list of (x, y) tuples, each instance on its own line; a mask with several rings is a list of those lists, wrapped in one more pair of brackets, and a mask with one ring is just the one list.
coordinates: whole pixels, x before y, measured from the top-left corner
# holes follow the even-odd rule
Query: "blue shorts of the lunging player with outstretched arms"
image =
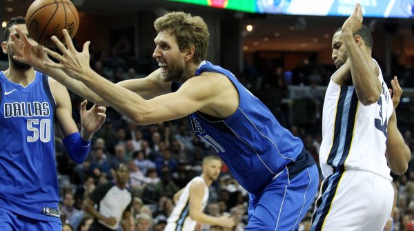
[(271, 181), (259, 194), (249, 194), (247, 230), (297, 230), (317, 193), (319, 173), (311, 165), (289, 179), (288, 171)]

